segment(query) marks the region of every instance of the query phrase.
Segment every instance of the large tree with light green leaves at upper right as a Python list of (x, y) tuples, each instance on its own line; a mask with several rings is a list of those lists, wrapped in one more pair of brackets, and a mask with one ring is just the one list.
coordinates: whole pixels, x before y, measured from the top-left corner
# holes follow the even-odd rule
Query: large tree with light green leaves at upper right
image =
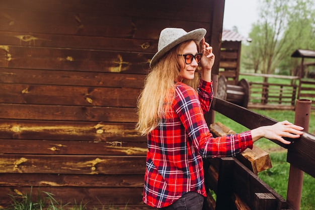
[[(255, 72), (272, 74), (297, 48), (313, 46), (315, 3), (312, 0), (262, 0), (260, 20), (252, 26), (252, 43), (245, 46)], [(282, 62), (283, 64), (283, 62)]]

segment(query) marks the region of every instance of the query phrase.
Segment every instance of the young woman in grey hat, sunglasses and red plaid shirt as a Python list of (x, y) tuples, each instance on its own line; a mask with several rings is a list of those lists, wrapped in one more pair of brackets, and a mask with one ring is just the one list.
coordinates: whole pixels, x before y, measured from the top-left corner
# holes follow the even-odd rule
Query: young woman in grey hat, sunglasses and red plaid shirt
[[(162, 30), (138, 100), (137, 129), (147, 135), (143, 201), (162, 209), (202, 209), (202, 158), (235, 156), (262, 137), (290, 144), (303, 128), (288, 121), (214, 138), (204, 119), (212, 101), (212, 47), (205, 29)], [(200, 46), (200, 48), (199, 48)], [(201, 79), (196, 77), (201, 65)], [(194, 86), (198, 81), (198, 88)]]

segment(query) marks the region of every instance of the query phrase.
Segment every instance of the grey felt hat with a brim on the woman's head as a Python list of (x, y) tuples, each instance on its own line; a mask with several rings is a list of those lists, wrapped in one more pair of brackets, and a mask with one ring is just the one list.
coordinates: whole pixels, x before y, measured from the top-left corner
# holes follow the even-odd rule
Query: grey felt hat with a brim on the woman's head
[(157, 52), (152, 57), (150, 67), (153, 67), (160, 58), (176, 45), (187, 41), (194, 40), (198, 43), (206, 35), (206, 29), (199, 28), (190, 32), (186, 32), (182, 28), (165, 28), (161, 31)]

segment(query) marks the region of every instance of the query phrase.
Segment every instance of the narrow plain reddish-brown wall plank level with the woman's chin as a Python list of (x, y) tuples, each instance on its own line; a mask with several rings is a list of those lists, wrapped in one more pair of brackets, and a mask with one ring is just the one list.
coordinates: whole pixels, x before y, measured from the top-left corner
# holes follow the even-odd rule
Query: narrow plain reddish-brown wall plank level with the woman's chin
[(0, 68), (0, 83), (143, 88), (145, 75), (104, 72)]

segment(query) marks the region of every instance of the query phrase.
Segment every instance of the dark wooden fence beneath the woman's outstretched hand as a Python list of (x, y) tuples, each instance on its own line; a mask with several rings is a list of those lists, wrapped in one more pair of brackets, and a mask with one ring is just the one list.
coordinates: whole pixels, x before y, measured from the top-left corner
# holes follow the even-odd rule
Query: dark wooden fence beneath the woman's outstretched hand
[[(211, 107), (249, 129), (276, 123), (273, 119), (218, 98), (214, 98)], [(305, 112), (305, 116), (309, 116), (306, 110), (302, 110), (302, 112)], [(242, 116), (246, 116), (246, 118)], [(315, 178), (315, 156), (313, 155), (315, 136), (305, 132), (298, 141), (291, 145), (273, 142), (288, 149), (287, 162), (291, 164), (291, 167), (304, 171)], [(215, 208), (209, 196), (207, 201), (212, 204), (207, 205), (205, 209), (298, 209), (292, 206), (292, 202), (286, 201), (260, 180), (255, 173), (240, 163), (238, 158), (221, 158), (205, 162), (206, 185), (213, 189), (217, 196)], [(293, 181), (289, 185), (292, 185), (296, 178), (294, 174), (290, 173), (289, 181)], [(288, 192), (288, 196), (290, 193)]]

